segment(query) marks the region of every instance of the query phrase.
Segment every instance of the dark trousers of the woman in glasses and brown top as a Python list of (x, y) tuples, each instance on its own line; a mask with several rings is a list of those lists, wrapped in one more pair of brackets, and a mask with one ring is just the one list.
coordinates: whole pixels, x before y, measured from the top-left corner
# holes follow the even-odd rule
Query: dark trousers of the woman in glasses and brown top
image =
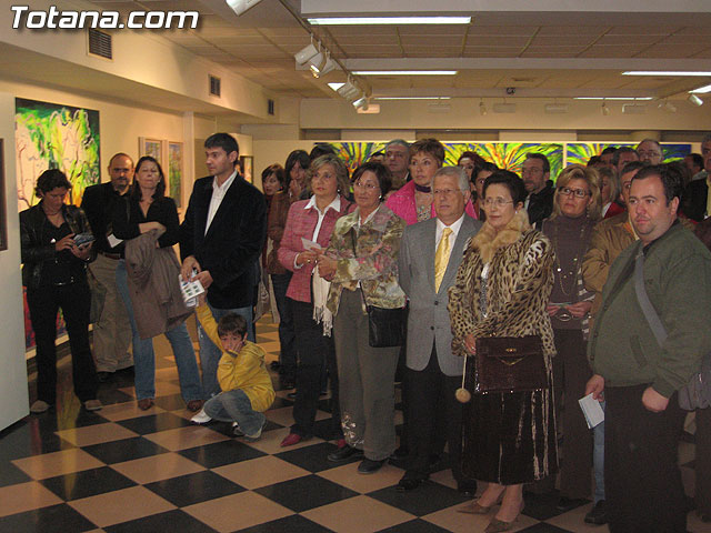
[(578, 403), (578, 399), (585, 395), (585, 384), (592, 376), (585, 356), (587, 343), (581, 330), (557, 329), (553, 333), (558, 352), (553, 358), (555, 420), (563, 428), (560, 494), (571, 499), (590, 497), (592, 432)]

